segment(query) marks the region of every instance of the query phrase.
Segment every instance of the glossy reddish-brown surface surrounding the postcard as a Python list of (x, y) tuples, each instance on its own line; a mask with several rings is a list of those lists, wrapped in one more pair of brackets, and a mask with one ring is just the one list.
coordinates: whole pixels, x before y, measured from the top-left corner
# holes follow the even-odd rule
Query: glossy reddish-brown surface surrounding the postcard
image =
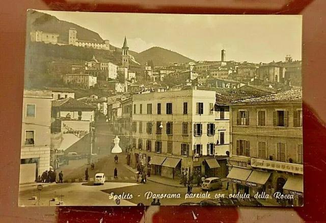
[[(305, 207), (215, 208), (160, 207), (148, 211), (146, 222), (321, 222), (326, 219), (326, 1), (1, 1), (0, 76), (1, 139), (0, 222), (139, 222), (141, 207), (18, 207), (21, 110), (23, 94), (26, 10), (148, 12), (193, 14), (303, 15), (303, 98)], [(72, 4), (73, 3), (73, 4)], [(110, 5), (107, 5), (111, 3)], [(120, 3), (120, 5), (117, 5)], [(136, 4), (137, 3), (137, 4)], [(133, 5), (128, 5), (133, 4)], [(222, 7), (222, 8), (221, 8)], [(266, 24), (268, 25), (268, 24)], [(197, 220), (193, 214), (196, 213)], [(297, 213), (297, 214), (296, 214)], [(281, 216), (281, 217), (280, 217)], [(279, 219), (279, 220), (276, 220)]]

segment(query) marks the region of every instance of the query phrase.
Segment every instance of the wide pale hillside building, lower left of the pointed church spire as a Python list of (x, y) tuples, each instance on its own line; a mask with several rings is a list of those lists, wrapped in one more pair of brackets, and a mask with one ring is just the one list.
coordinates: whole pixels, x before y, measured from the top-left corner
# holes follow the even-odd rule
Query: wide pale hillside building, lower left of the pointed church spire
[(97, 83), (97, 77), (89, 74), (66, 74), (63, 82), (69, 87), (90, 89)]

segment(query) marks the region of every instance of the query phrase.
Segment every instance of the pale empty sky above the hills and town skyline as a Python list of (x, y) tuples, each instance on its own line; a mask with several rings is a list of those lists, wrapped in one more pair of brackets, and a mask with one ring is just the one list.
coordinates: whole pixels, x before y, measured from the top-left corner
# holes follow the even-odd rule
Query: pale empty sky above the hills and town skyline
[(92, 30), (116, 47), (126, 36), (136, 52), (159, 46), (196, 61), (219, 61), (224, 48), (227, 61), (269, 63), (287, 54), (302, 60), (300, 15), (41, 12)]

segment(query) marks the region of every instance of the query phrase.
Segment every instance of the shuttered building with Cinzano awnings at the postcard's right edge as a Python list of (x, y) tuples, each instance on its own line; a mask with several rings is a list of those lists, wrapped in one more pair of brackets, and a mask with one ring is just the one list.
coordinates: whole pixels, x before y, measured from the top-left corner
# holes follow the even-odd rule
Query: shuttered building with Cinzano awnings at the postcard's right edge
[(232, 193), (293, 194), (303, 204), (302, 88), (230, 104)]

